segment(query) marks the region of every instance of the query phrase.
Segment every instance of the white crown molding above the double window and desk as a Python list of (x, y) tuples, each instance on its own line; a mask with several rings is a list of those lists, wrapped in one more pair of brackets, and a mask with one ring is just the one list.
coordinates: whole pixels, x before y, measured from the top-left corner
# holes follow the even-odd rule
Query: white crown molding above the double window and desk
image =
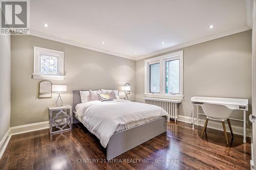
[(193, 40), (193, 41), (184, 42), (184, 43), (172, 46), (172, 47), (165, 48), (164, 50), (159, 50), (159, 51), (154, 52), (154, 53), (139, 56), (139, 57), (136, 57), (136, 61), (141, 60), (141, 59), (145, 59), (145, 58), (148, 58), (148, 57), (156, 56), (156, 55), (159, 55), (159, 54), (171, 52), (171, 51), (174, 51), (174, 50), (178, 50), (180, 48), (184, 48), (184, 47), (187, 47), (187, 46), (191, 46), (191, 45), (199, 44), (199, 43), (202, 43), (202, 42), (218, 39), (218, 38), (225, 37), (225, 36), (228, 36), (228, 35), (248, 31), (248, 30), (251, 30), (251, 28), (249, 28), (247, 25), (244, 25), (242, 27), (238, 27), (238, 28), (234, 28), (234, 29), (231, 29), (231, 30), (228, 30), (228, 31), (212, 34), (212, 35), (202, 37), (202, 38), (199, 38), (199, 39), (196, 39), (196, 40)]

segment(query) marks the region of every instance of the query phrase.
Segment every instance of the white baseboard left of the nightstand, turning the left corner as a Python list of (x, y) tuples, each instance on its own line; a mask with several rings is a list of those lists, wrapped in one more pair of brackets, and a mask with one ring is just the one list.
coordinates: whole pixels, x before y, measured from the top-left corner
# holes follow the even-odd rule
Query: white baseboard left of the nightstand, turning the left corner
[(6, 132), (5, 136), (3, 137), (3, 139), (0, 142), (0, 159), (3, 156), (12, 135), (37, 131), (37, 130), (41, 130), (41, 129), (48, 129), (48, 128), (49, 128), (49, 121), (28, 124), (28, 125), (22, 125), (22, 126), (15, 126), (15, 127), (9, 128), (9, 130)]

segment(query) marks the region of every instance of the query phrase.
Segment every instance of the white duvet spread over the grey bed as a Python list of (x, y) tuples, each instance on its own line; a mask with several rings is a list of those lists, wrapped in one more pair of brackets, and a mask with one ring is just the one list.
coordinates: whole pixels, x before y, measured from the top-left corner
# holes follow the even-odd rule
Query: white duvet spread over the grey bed
[(120, 125), (161, 116), (166, 116), (167, 122), (169, 121), (168, 113), (158, 106), (125, 100), (81, 103), (76, 106), (76, 111), (83, 125), (99, 138), (104, 148)]

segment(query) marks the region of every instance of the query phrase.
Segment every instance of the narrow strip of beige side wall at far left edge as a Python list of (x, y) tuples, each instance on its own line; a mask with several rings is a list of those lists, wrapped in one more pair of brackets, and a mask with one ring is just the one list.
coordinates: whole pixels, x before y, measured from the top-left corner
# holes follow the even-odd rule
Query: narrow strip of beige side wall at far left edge
[(10, 128), (11, 115), (11, 39), (4, 35), (0, 36), (0, 82), (1, 141)]

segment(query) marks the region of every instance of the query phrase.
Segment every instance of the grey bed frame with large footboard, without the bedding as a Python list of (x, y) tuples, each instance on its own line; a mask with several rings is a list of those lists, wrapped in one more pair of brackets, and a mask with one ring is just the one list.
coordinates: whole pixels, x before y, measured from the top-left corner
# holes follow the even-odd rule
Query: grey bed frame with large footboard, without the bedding
[[(79, 90), (73, 91), (73, 110), (81, 103)], [(106, 146), (106, 160), (111, 160), (124, 152), (166, 132), (166, 117), (160, 117), (150, 122), (125, 129), (113, 134)]]

